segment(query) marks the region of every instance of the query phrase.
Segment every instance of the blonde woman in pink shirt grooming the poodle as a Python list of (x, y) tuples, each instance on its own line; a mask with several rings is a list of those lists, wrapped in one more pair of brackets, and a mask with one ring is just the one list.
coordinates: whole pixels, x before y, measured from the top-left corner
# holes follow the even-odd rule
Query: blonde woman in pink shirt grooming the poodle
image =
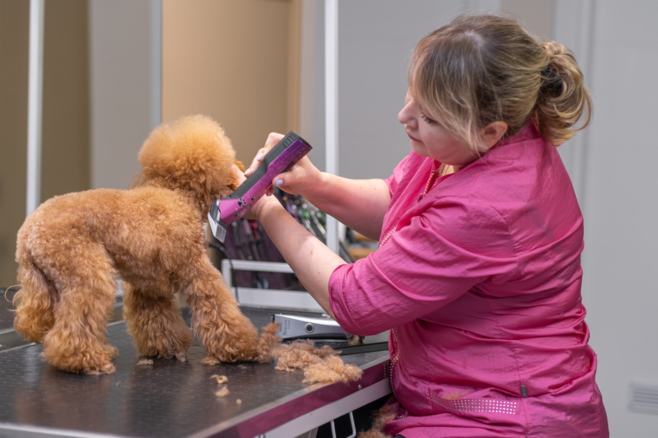
[(304, 158), (273, 180), (378, 239), (374, 254), (346, 264), (273, 196), (250, 217), (345, 330), (390, 330), (387, 434), (608, 437), (581, 303), (583, 218), (556, 149), (590, 121), (576, 60), (517, 21), (464, 15), (421, 39), (408, 87), (412, 151), (389, 178)]

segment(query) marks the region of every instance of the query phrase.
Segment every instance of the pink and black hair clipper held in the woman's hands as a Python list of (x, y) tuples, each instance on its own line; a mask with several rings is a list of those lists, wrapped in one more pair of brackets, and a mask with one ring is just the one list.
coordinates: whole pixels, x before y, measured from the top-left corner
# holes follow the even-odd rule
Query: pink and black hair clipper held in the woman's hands
[(311, 151), (311, 145), (290, 131), (263, 158), (262, 163), (230, 196), (213, 202), (208, 213), (212, 234), (223, 242), (226, 228), (241, 218), (251, 206), (272, 186), (272, 178), (287, 172)]

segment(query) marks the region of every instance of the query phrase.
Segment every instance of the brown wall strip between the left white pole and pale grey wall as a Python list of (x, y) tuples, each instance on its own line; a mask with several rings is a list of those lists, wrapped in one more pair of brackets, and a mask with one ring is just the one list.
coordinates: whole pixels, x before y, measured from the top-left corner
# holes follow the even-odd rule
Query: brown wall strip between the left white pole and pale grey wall
[(41, 198), (89, 189), (87, 1), (46, 1)]

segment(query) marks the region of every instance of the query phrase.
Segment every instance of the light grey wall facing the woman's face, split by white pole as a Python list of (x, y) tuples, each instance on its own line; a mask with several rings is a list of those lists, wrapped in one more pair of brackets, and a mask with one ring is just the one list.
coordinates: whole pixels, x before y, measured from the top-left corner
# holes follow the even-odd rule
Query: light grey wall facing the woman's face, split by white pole
[[(409, 139), (397, 121), (407, 89), (408, 57), (421, 37), (446, 22), (446, 17), (466, 10), (466, 3), (469, 2), (338, 1), (340, 175), (381, 178), (409, 153)], [(324, 29), (322, 2), (304, 0), (304, 11), (302, 41), (307, 46), (302, 46), (305, 88), (300, 130), (313, 144), (313, 162), (323, 169), (323, 153), (318, 153), (325, 144), (324, 40), (322, 32), (318, 32)], [(309, 41), (314, 42), (313, 46)], [(309, 57), (313, 58), (312, 64)]]

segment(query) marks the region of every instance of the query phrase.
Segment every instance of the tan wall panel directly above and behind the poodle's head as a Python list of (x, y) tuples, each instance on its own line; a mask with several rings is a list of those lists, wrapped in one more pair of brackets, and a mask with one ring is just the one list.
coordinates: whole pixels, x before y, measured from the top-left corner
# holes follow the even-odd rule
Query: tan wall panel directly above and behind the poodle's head
[(248, 164), (298, 126), (297, 0), (163, 0), (163, 122), (203, 113)]

